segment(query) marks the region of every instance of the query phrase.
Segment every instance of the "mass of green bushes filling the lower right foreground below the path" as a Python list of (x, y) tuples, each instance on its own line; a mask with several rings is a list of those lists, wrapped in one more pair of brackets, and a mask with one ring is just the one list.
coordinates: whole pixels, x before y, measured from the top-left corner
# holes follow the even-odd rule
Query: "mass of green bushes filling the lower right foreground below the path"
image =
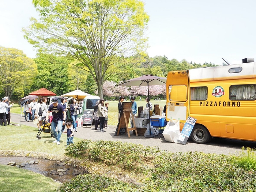
[[(81, 145), (87, 147), (79, 150)], [(144, 171), (136, 172), (140, 185), (86, 174), (63, 184), (58, 189), (60, 192), (256, 191), (256, 159), (251, 149), (236, 157), (198, 152), (170, 153), (131, 143), (82, 140), (66, 150), (68, 155), (83, 155), (84, 158), (119, 166), (130, 172), (136, 172), (138, 167), (143, 167)]]

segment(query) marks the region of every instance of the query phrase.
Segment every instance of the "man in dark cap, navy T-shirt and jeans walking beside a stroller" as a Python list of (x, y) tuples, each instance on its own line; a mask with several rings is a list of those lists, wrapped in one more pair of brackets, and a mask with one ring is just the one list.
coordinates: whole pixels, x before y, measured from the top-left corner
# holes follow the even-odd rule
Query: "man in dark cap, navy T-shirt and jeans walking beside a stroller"
[[(49, 113), (52, 112), (52, 125), (51, 131), (56, 139), (53, 143), (57, 143), (60, 145), (60, 137), (62, 133), (62, 126), (65, 125), (66, 121), (66, 111), (62, 105), (58, 103), (58, 98), (52, 98), (52, 104), (48, 108), (48, 112), (46, 114), (46, 121), (48, 120)], [(58, 133), (56, 133), (56, 127), (58, 127)]]

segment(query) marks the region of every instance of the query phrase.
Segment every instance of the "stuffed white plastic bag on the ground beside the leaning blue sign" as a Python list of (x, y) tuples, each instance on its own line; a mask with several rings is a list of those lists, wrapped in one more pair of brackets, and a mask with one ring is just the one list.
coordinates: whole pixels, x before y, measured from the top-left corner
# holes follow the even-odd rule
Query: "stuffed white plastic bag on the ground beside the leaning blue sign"
[(167, 142), (178, 143), (177, 140), (180, 136), (180, 120), (170, 119), (163, 130), (163, 136)]

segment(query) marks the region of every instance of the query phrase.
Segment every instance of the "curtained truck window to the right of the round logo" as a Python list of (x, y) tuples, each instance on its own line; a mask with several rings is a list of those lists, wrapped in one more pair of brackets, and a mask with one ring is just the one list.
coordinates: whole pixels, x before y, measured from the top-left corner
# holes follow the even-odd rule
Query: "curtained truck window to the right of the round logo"
[(256, 84), (231, 85), (229, 87), (230, 100), (256, 100)]

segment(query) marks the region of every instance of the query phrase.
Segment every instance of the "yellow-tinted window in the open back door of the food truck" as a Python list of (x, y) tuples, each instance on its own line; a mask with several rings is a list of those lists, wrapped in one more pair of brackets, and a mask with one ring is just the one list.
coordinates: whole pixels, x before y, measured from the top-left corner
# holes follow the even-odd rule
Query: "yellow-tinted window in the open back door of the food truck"
[(187, 86), (185, 85), (170, 85), (169, 100), (170, 101), (187, 101)]

